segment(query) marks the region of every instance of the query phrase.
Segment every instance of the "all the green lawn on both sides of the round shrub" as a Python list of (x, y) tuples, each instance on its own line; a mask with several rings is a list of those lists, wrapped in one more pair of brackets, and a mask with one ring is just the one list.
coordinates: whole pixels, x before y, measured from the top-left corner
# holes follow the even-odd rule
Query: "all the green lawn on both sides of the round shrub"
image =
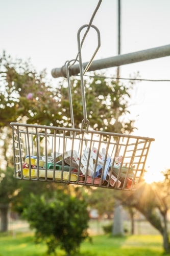
[[(34, 243), (32, 233), (0, 234), (0, 256), (45, 256), (46, 245)], [(58, 256), (65, 252), (57, 250)], [(160, 256), (163, 255), (162, 237), (135, 235), (123, 238), (94, 236), (92, 243), (85, 241), (79, 255), (84, 256)]]

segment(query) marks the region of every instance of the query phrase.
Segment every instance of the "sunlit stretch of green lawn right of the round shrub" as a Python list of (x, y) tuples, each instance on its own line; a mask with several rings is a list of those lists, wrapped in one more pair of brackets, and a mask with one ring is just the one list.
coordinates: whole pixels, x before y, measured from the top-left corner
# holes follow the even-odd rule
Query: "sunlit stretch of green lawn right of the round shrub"
[(161, 236), (127, 236), (113, 238), (109, 236), (93, 237), (93, 244), (85, 242), (81, 251), (93, 252), (98, 256), (160, 256), (163, 254)]

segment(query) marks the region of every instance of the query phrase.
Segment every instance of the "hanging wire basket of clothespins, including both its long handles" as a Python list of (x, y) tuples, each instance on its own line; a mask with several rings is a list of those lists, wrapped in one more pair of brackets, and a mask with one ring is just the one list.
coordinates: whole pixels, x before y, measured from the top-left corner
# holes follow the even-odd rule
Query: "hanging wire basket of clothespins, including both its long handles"
[[(84, 119), (75, 129), (69, 67), (66, 65), (71, 128), (11, 123), (14, 175), (21, 180), (47, 181), (135, 191), (141, 180), (153, 138), (106, 133), (89, 129), (84, 93), (80, 32), (78, 50)], [(100, 48), (100, 32), (96, 52)], [(88, 69), (86, 67), (85, 72)], [(83, 129), (87, 124), (86, 129)]]

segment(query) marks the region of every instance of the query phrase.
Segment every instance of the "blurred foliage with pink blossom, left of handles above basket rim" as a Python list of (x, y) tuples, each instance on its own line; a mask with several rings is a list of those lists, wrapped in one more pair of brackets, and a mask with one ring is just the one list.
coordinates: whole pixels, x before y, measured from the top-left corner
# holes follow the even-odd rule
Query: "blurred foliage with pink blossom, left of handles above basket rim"
[(39, 74), (30, 61), (0, 56), (0, 127), (22, 120), (55, 125), (60, 118), (56, 90), (47, 82), (45, 70)]

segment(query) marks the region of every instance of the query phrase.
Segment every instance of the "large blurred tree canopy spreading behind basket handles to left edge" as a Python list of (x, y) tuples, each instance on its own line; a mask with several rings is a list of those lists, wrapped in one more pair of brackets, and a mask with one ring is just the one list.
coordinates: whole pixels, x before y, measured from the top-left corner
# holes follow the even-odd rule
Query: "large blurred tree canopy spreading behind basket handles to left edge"
[[(0, 154), (3, 160), (1, 165), (5, 169), (6, 166), (12, 166), (13, 162), (10, 122), (66, 127), (71, 124), (65, 81), (55, 89), (47, 81), (44, 70), (38, 73), (29, 60), (13, 60), (5, 52), (0, 57), (0, 77), (0, 132), (3, 144)], [(80, 80), (71, 78), (71, 90), (75, 126), (78, 127), (83, 119)], [(85, 82), (85, 91), (87, 115), (94, 130), (118, 133), (133, 131), (133, 120), (123, 120), (128, 113), (128, 86), (117, 84), (113, 80), (92, 78)], [(1, 184), (3, 182), (2, 180)], [(15, 190), (14, 186), (13, 193)]]

